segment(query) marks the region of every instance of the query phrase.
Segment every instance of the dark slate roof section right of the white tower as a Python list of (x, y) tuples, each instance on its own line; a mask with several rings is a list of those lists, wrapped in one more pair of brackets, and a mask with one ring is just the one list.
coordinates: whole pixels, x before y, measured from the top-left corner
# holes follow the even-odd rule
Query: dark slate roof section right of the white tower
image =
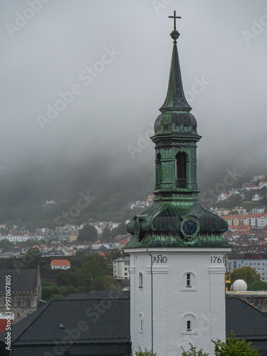
[(226, 335), (251, 341), (261, 356), (267, 356), (267, 315), (235, 296), (226, 296)]

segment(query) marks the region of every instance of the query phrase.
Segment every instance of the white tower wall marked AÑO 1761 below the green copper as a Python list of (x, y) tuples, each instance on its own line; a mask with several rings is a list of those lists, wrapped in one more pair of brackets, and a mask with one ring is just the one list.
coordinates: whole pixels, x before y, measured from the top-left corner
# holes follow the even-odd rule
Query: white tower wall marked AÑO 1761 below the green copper
[(225, 340), (224, 256), (229, 251), (230, 248), (127, 249), (132, 354), (141, 347), (153, 349), (157, 356), (178, 356), (182, 355), (181, 346), (188, 350), (191, 342), (197, 350), (203, 348), (214, 355), (211, 339)]

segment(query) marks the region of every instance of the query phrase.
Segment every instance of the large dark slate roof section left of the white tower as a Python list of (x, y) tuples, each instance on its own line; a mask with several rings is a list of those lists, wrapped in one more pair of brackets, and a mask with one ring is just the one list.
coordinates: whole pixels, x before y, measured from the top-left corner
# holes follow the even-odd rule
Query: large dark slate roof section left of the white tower
[(11, 335), (12, 356), (54, 355), (58, 347), (70, 356), (129, 355), (130, 300), (52, 300), (12, 326)]

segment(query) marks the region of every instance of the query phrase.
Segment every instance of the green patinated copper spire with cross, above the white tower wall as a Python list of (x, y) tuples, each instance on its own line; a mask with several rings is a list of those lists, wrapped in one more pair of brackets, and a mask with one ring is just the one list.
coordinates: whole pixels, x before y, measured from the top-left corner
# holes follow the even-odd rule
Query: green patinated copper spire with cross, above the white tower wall
[(127, 225), (132, 239), (125, 248), (229, 247), (224, 219), (199, 205), (197, 194), (197, 120), (182, 87), (177, 53), (176, 16), (167, 97), (155, 121), (155, 203)]

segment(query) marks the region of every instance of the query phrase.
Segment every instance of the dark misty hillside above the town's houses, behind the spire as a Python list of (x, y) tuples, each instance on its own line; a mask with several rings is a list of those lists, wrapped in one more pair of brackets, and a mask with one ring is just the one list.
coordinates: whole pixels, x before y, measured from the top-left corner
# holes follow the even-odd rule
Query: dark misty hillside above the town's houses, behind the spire
[[(87, 161), (63, 159), (23, 164), (1, 174), (0, 223), (26, 226), (30, 231), (94, 220), (125, 221), (135, 214), (122, 210), (128, 201), (146, 200), (155, 184), (154, 160), (147, 163), (99, 155)], [(114, 158), (114, 157), (113, 157)], [(120, 162), (120, 164), (119, 164)], [(199, 162), (200, 204), (210, 207), (224, 189), (227, 172), (236, 172), (231, 187), (251, 179), (224, 162)], [(209, 174), (207, 174), (209, 172)], [(227, 180), (229, 182), (229, 179)], [(226, 187), (229, 189), (231, 187)], [(55, 201), (56, 204), (47, 204)], [(80, 208), (80, 209), (79, 209)]]

